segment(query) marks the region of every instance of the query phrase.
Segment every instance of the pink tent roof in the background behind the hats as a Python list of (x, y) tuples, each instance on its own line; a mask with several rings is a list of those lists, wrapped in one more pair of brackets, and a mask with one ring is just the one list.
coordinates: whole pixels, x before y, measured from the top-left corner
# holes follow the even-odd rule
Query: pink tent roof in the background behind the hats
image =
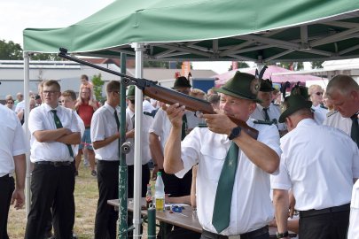
[[(243, 69), (232, 70), (228, 73), (214, 75), (213, 77), (218, 79), (215, 81), (215, 86), (216, 87), (222, 86), (225, 82), (230, 80), (230, 78), (232, 78), (238, 70), (242, 73), (255, 74), (255, 69), (256, 68), (254, 68), (254, 67), (243, 68)], [(286, 81), (289, 81), (289, 82), (300, 81), (300, 82), (304, 83), (305, 81), (326, 80), (321, 77), (317, 77), (317, 76), (313, 76), (313, 75), (309, 75), (309, 74), (287, 74), (287, 75), (285, 75), (285, 74), (277, 74), (277, 73), (293, 73), (293, 71), (287, 70), (287, 69), (279, 67), (279, 66), (268, 66), (267, 70), (264, 72), (263, 78), (271, 79), (274, 83), (283, 83)]]

